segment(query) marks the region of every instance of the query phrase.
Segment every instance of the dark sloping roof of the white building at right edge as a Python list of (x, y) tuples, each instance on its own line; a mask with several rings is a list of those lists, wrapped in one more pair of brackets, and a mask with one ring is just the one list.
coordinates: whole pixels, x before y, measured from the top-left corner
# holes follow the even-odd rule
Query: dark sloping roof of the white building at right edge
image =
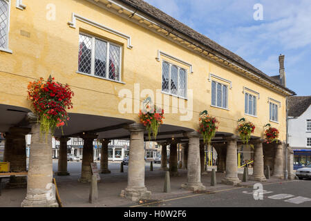
[(311, 96), (288, 97), (288, 115), (291, 117), (301, 116), (311, 105)]

